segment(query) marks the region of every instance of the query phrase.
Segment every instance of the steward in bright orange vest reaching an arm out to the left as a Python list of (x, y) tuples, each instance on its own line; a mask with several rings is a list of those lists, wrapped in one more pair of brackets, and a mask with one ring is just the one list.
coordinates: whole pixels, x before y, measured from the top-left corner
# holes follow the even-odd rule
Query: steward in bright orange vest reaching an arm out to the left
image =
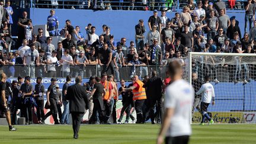
[(135, 101), (135, 110), (137, 114), (136, 123), (143, 123), (143, 113), (142, 107), (146, 100), (146, 92), (145, 88), (143, 88), (143, 82), (139, 80), (139, 76), (133, 76), (134, 84), (130, 88), (124, 88), (124, 91), (132, 91), (133, 92), (133, 101)]

